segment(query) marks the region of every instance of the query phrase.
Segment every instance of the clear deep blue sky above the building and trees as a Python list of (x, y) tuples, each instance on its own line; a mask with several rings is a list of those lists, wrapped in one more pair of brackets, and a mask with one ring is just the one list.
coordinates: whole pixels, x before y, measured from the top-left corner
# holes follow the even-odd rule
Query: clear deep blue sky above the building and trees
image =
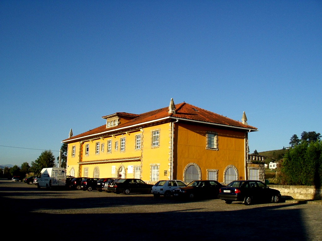
[(259, 129), (251, 153), (322, 133), (322, 1), (0, 1), (0, 164), (115, 112), (187, 102)]

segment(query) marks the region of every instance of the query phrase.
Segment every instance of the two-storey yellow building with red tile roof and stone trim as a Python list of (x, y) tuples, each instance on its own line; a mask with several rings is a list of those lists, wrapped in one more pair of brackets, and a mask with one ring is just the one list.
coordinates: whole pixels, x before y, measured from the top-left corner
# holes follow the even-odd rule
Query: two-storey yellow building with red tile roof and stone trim
[(103, 116), (106, 124), (62, 141), (67, 174), (140, 178), (264, 181), (264, 160), (248, 154), (248, 133), (257, 128), (188, 103), (142, 113)]

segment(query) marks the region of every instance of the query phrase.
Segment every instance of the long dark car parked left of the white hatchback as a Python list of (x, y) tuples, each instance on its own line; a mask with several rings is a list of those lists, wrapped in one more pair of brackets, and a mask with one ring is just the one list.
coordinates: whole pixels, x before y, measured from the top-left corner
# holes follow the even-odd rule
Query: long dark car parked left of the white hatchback
[(122, 178), (117, 182), (108, 185), (108, 191), (129, 194), (129, 193), (151, 193), (152, 184), (147, 184), (141, 179)]

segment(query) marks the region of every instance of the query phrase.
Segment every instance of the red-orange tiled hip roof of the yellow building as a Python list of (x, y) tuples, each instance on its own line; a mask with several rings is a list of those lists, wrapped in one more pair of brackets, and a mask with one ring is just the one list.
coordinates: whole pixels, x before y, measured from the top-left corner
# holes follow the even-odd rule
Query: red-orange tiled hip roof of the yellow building
[(169, 114), (168, 111), (169, 111), (168, 107), (164, 107), (158, 110), (142, 113), (139, 115), (125, 113), (125, 112), (117, 112), (112, 115), (103, 116), (102, 118), (108, 118), (109, 116), (112, 117), (114, 115), (119, 114), (119, 116), (121, 115), (126, 115), (128, 117), (131, 116), (133, 119), (125, 123), (120, 123), (118, 126), (113, 126), (109, 128), (106, 128), (106, 125), (104, 124), (95, 129), (86, 131), (76, 136), (72, 136), (71, 138), (65, 139), (62, 142), (70, 142), (75, 139), (81, 140), (81, 139), (97, 138), (100, 135), (103, 136), (104, 134), (105, 135), (107, 134), (104, 132), (108, 132), (108, 134), (110, 135), (113, 133), (125, 132), (130, 129), (138, 129), (146, 125), (151, 125), (154, 122), (169, 122), (175, 119), (218, 124), (221, 126), (241, 128), (241, 129), (247, 129), (251, 131), (257, 130), (256, 127), (245, 125), (240, 121), (232, 120), (225, 116), (201, 109), (197, 106), (194, 106), (185, 102), (176, 105), (175, 114)]

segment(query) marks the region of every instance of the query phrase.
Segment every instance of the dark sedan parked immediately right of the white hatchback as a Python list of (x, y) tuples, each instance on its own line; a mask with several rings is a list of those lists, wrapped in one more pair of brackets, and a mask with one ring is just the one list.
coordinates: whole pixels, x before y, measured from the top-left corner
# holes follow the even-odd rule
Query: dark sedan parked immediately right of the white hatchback
[(174, 190), (174, 196), (183, 198), (218, 198), (222, 184), (214, 180), (200, 180)]

